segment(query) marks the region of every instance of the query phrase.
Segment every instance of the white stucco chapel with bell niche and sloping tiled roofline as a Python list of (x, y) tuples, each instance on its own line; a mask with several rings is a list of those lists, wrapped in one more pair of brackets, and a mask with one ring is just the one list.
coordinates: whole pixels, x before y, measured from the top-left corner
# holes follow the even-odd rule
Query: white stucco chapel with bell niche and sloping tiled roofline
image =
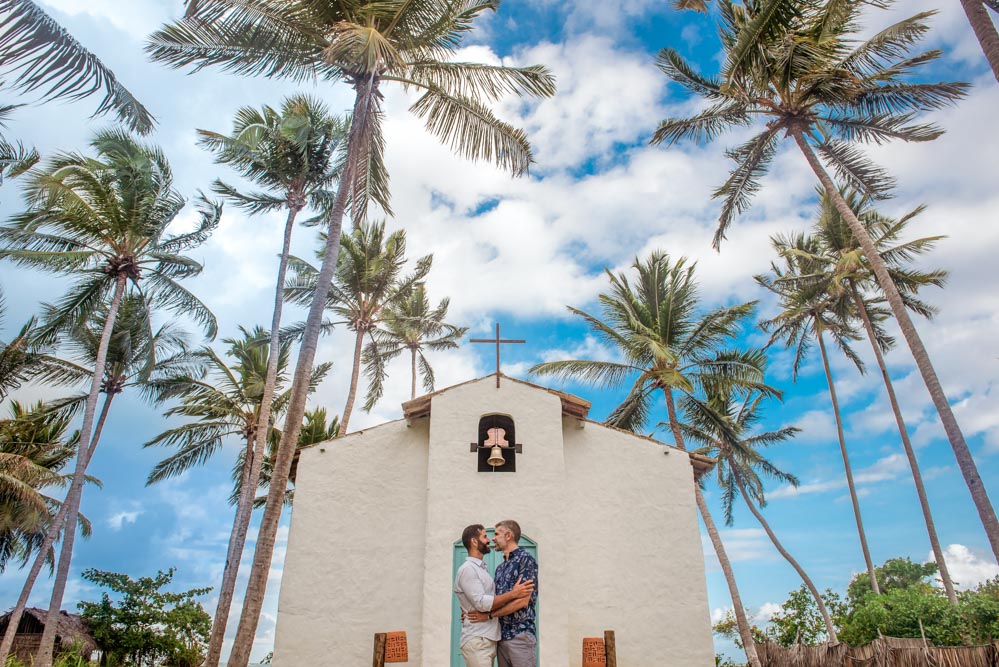
[(461, 531), (503, 519), (538, 561), (539, 665), (580, 667), (583, 638), (604, 630), (619, 665), (714, 665), (693, 493), (710, 459), (501, 374), (402, 407), (301, 454), (275, 667), (367, 666), (374, 634), (397, 630), (409, 664), (463, 666)]

